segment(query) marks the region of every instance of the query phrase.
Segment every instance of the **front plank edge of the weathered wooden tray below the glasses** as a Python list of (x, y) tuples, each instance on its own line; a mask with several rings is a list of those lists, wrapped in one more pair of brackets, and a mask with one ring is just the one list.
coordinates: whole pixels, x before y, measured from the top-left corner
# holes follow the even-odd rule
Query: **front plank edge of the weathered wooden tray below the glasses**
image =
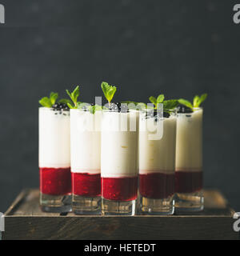
[(229, 218), (6, 218), (3, 239), (238, 239)]

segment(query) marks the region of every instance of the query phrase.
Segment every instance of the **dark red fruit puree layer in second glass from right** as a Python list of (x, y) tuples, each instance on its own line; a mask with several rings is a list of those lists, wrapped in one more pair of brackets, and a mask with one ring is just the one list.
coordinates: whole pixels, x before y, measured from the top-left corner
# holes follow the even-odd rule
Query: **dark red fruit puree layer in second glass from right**
[(163, 199), (174, 194), (174, 174), (139, 175), (139, 192), (145, 198)]

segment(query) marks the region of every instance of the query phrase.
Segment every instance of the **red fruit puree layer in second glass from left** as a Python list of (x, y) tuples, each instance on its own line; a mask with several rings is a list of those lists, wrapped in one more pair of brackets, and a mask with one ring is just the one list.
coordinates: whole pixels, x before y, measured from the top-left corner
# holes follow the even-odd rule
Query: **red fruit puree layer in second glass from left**
[(97, 197), (101, 195), (101, 174), (72, 173), (73, 194)]

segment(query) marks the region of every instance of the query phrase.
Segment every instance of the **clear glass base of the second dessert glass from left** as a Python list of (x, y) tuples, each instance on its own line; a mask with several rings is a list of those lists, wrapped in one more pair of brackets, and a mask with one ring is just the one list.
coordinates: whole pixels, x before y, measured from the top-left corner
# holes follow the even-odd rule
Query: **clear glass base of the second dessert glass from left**
[(101, 197), (87, 198), (73, 194), (72, 205), (74, 214), (101, 214)]

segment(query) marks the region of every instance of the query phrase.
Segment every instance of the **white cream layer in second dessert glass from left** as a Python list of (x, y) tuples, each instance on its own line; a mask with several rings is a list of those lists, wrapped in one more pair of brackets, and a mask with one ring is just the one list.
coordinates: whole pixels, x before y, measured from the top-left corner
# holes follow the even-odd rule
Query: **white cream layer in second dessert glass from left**
[(70, 110), (71, 171), (101, 172), (102, 111)]

